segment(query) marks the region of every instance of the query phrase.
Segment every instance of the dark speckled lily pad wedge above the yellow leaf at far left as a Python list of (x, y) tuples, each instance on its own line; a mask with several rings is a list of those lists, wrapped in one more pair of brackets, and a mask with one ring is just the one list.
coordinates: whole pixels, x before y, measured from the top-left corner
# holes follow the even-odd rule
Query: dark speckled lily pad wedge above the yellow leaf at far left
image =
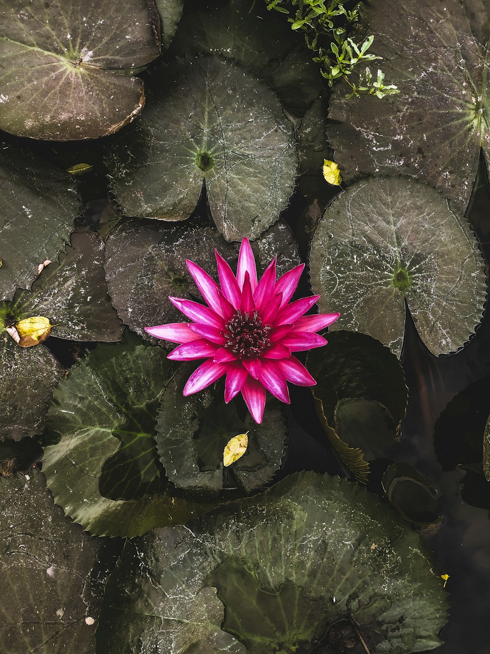
[(73, 233), (59, 263), (45, 266), (32, 290), (19, 290), (12, 311), (18, 320), (50, 319), (52, 336), (74, 341), (118, 341), (122, 320), (105, 281), (105, 246), (95, 233)]

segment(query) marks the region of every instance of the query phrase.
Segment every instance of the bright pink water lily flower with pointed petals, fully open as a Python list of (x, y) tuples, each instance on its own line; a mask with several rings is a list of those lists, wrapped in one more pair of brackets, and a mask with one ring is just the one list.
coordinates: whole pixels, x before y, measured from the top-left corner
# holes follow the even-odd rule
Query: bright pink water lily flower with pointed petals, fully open
[(262, 422), (265, 391), (289, 404), (287, 382), (313, 386), (316, 381), (293, 352), (321, 347), (327, 341), (318, 330), (332, 324), (338, 313), (305, 316), (319, 296), (289, 302), (304, 264), (276, 281), (276, 258), (257, 282), (252, 248), (243, 239), (237, 276), (216, 252), (220, 286), (197, 264), (187, 261), (206, 305), (169, 297), (193, 322), (145, 327), (148, 334), (182, 343), (169, 359), (206, 358), (189, 377), (184, 395), (197, 393), (223, 375), (225, 402), (241, 392), (255, 422)]

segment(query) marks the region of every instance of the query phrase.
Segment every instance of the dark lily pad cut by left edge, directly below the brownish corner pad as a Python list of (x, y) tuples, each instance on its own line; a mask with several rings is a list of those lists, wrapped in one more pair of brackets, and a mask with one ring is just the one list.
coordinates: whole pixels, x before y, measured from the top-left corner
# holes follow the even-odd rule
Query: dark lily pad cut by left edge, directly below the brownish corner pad
[(55, 260), (67, 243), (78, 215), (73, 184), (71, 175), (27, 150), (1, 144), (0, 300), (29, 288), (39, 265)]

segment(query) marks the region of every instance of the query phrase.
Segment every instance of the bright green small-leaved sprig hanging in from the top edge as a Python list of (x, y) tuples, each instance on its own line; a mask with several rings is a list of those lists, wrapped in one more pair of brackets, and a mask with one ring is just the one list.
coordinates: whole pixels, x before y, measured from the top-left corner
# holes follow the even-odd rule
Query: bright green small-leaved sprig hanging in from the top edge
[(349, 26), (359, 20), (359, 7), (347, 10), (344, 0), (266, 0), (267, 9), (274, 9), (288, 18), (291, 29), (304, 32), (306, 45), (314, 53), (313, 61), (321, 64), (321, 75), (328, 80), (329, 86), (337, 79), (342, 79), (352, 89), (347, 96), (376, 95), (385, 97), (399, 93), (394, 84), (384, 85), (384, 73), (378, 70), (378, 77), (373, 80), (368, 68), (361, 73), (357, 84), (351, 82), (350, 75), (359, 63), (381, 59), (368, 52), (374, 36), (358, 44), (347, 35), (346, 27), (339, 25), (343, 18)]

